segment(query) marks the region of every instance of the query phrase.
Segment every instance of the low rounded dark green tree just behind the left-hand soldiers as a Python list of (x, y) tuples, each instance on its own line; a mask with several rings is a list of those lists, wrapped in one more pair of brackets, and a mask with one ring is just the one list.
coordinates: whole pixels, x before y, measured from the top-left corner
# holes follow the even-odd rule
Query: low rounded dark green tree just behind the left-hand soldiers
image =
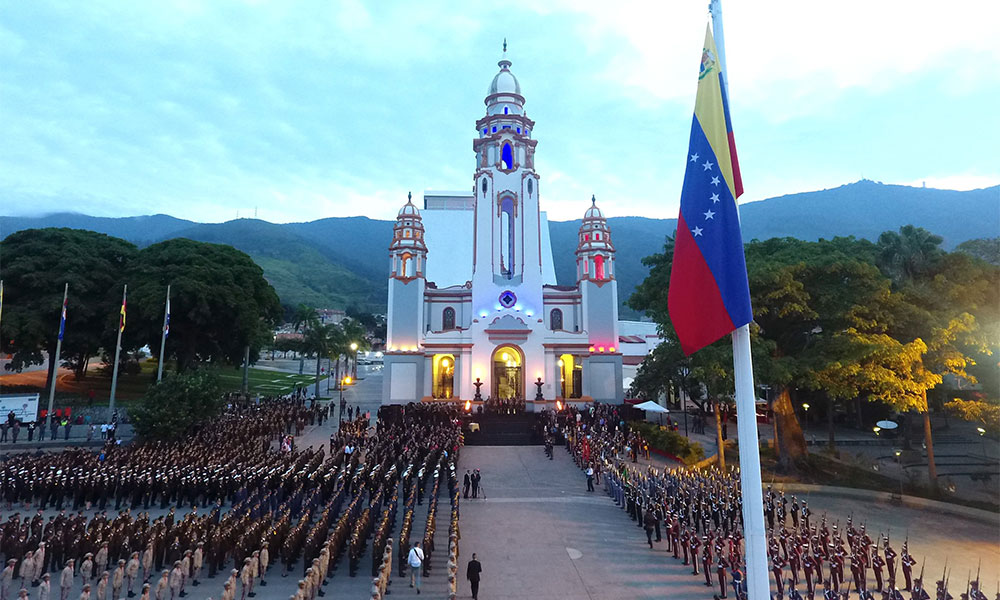
[(129, 409), (136, 434), (143, 440), (180, 439), (222, 412), (222, 389), (210, 369), (165, 377)]

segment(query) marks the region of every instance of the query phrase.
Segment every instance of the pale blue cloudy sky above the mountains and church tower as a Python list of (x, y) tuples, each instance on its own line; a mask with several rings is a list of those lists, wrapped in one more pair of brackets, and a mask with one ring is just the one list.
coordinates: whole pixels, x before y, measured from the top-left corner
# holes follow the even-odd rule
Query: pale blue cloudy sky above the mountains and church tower
[[(470, 188), (504, 37), (542, 202), (673, 217), (707, 0), (0, 0), (0, 215), (389, 218)], [(994, 0), (727, 0), (744, 201), (1000, 183)]]

